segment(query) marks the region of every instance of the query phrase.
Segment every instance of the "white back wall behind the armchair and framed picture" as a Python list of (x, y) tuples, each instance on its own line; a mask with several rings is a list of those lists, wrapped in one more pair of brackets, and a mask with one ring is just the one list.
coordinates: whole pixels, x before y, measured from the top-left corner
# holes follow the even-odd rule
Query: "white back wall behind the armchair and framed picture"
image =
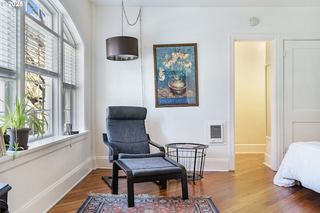
[[(131, 21), (138, 8), (126, 8)], [(260, 23), (248, 25), (257, 16)], [(205, 121), (226, 121), (226, 145), (207, 149), (206, 170), (228, 170), (229, 156), (229, 33), (319, 33), (320, 7), (290, 8), (142, 8), (144, 99), (146, 126), (153, 141), (204, 143)], [(108, 105), (141, 105), (140, 61), (105, 58), (105, 39), (121, 33), (120, 7), (96, 6), (94, 122), (97, 167), (106, 167), (107, 148), (101, 142)], [(139, 37), (138, 26), (124, 35)], [(154, 107), (153, 44), (197, 43), (199, 106)]]

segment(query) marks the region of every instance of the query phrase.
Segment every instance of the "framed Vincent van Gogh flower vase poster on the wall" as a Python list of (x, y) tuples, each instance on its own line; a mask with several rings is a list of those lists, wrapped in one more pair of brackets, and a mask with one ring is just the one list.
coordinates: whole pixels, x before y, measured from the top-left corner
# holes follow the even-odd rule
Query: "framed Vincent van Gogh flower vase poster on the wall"
[(155, 107), (198, 106), (196, 43), (153, 45)]

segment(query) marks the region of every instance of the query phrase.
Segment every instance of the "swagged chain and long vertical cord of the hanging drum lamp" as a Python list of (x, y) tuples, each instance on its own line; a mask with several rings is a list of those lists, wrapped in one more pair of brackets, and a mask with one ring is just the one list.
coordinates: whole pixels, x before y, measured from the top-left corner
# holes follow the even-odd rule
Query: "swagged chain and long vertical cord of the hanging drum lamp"
[(123, 36), (123, 13), (125, 16), (125, 20), (128, 25), (133, 26), (136, 24), (136, 22), (139, 20), (140, 22), (140, 63), (141, 63), (141, 93), (142, 93), (142, 106), (144, 106), (144, 82), (143, 82), (143, 60), (142, 60), (142, 8), (140, 7), (139, 9), (139, 14), (136, 17), (136, 20), (134, 23), (129, 23), (128, 17), (126, 16), (125, 10), (124, 10), (124, 5), (123, 5), (123, 0), (121, 0), (121, 36)]

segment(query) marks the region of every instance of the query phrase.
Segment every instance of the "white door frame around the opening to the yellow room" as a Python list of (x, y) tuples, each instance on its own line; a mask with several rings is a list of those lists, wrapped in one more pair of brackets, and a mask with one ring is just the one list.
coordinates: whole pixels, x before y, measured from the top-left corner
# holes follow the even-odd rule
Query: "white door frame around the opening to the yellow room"
[[(229, 123), (228, 137), (229, 145), (229, 170), (235, 169), (235, 151), (234, 151), (234, 41), (271, 41), (273, 43), (273, 54), (271, 55), (272, 73), (271, 73), (271, 169), (277, 170), (282, 159), (280, 153), (281, 144), (281, 105), (283, 106), (283, 74), (280, 68), (280, 37), (278, 34), (229, 34)], [(283, 43), (283, 42), (282, 42)], [(283, 45), (282, 45), (283, 46)], [(282, 51), (283, 52), (283, 51)], [(283, 66), (282, 66), (283, 67)], [(283, 73), (283, 69), (282, 69)], [(282, 124), (283, 125), (283, 124)]]

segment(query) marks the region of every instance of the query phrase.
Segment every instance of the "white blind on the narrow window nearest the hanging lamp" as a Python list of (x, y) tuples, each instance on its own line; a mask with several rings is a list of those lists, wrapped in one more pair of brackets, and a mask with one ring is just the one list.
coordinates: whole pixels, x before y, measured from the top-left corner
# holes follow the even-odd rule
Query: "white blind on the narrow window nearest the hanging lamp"
[(76, 83), (76, 68), (75, 68), (75, 48), (63, 42), (63, 70), (64, 70), (64, 86), (65, 88), (73, 89)]

